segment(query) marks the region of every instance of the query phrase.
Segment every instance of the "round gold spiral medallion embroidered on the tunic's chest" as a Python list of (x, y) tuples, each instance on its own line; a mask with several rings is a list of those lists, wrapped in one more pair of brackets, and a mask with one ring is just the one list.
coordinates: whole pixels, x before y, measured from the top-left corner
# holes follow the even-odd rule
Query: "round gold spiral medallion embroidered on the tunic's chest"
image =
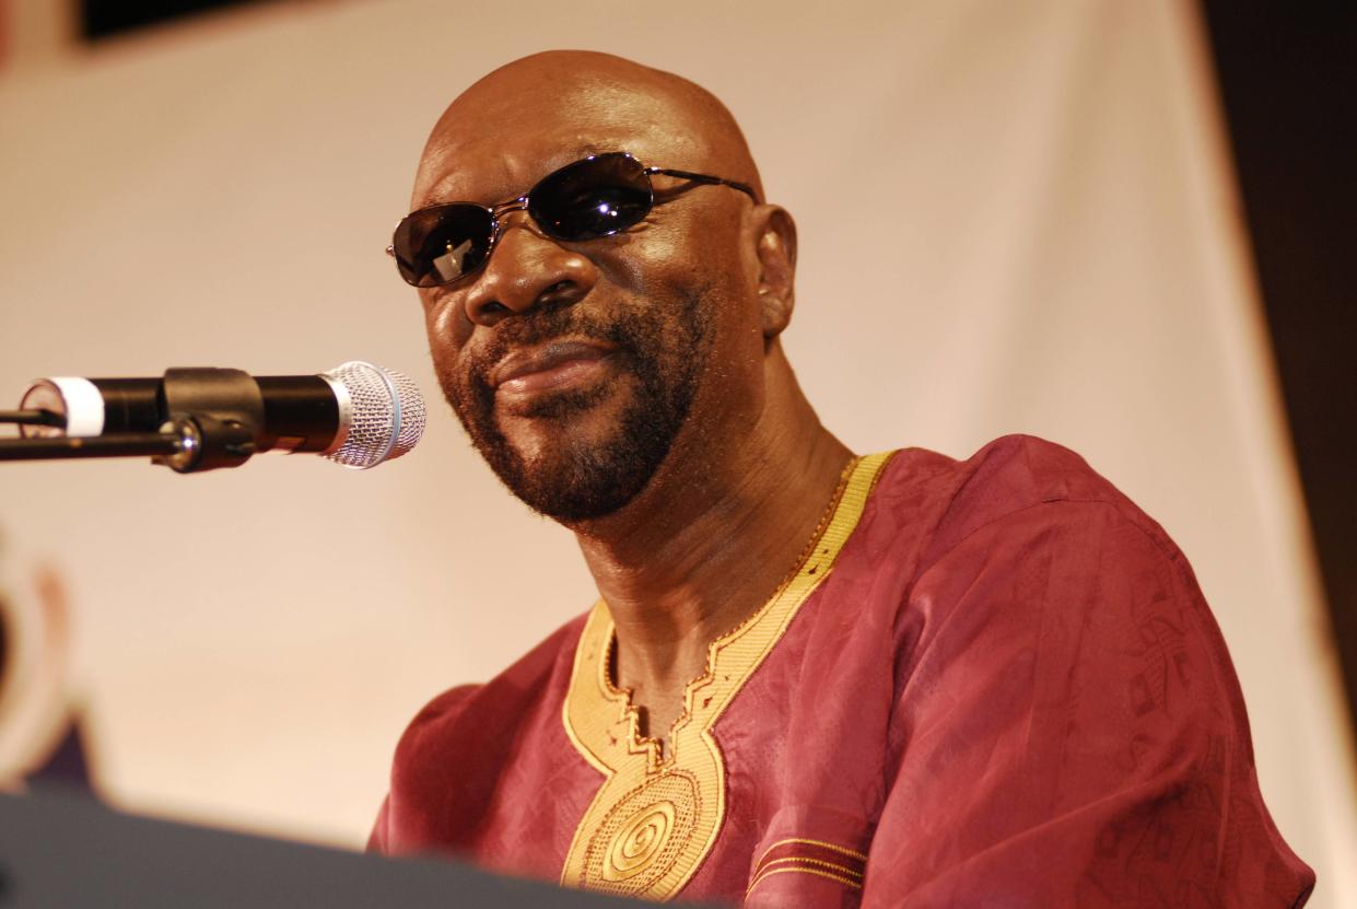
[(590, 890), (636, 895), (674, 867), (696, 829), (697, 780), (684, 771), (660, 773), (608, 811), (589, 840), (582, 883)]

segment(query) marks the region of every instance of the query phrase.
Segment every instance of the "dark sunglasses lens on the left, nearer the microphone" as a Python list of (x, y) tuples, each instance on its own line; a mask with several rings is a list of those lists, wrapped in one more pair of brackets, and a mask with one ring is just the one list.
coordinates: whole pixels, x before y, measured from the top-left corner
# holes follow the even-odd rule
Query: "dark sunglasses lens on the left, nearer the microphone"
[(494, 233), (490, 212), (479, 205), (421, 209), (396, 225), (392, 251), (406, 284), (437, 288), (479, 269)]

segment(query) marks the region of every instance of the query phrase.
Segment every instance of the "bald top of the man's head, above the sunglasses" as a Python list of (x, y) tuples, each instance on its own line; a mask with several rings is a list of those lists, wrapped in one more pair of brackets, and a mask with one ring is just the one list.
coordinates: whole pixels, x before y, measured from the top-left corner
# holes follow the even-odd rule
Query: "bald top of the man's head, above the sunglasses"
[(719, 174), (763, 198), (740, 126), (706, 88), (612, 54), (548, 50), (495, 69), (444, 111), (419, 163), (414, 208), (467, 198), (455, 195), (463, 161), (499, 159), (508, 191), (493, 201), (501, 201), (560, 164), (607, 151)]

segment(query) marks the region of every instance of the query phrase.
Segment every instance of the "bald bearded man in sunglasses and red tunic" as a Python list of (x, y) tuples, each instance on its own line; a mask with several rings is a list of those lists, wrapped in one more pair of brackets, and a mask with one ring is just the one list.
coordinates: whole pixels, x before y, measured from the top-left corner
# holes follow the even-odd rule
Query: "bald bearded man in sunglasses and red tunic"
[(442, 115), (413, 209), (444, 392), (601, 598), (415, 718), (373, 848), (749, 906), (1304, 901), (1153, 521), (1038, 440), (820, 425), (795, 229), (715, 98), (520, 60)]

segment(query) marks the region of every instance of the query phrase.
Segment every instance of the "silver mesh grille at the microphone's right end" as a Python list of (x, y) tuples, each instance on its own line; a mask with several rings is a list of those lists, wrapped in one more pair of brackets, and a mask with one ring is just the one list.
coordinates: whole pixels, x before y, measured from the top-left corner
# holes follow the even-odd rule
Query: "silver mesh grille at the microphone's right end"
[(349, 423), (349, 434), (326, 454), (331, 461), (366, 469), (400, 457), (423, 436), (423, 398), (410, 376), (361, 360), (341, 364), (324, 376), (349, 396), (349, 419), (341, 417)]

